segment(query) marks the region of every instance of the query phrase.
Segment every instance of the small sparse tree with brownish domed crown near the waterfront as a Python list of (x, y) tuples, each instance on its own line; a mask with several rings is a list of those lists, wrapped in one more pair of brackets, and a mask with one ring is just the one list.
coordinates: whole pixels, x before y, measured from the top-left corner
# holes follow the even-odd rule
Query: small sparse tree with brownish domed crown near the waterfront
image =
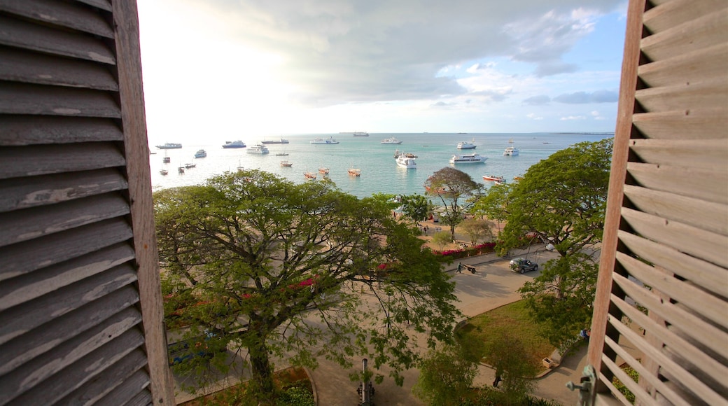
[(455, 239), (455, 226), (462, 221), (462, 213), (467, 212), (472, 205), (463, 202), (465, 206), (460, 207), (459, 201), (478, 194), (483, 186), (472, 180), (467, 173), (445, 167), (430, 175), (425, 180), (424, 187), (428, 195), (437, 196), (443, 202), (445, 214), (441, 218), (443, 223), (450, 226), (451, 239)]

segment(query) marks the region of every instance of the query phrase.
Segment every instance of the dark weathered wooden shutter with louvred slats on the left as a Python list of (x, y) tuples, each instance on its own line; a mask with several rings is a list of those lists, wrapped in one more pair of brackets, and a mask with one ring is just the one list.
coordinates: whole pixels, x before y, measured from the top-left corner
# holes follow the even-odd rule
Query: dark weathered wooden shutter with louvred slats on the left
[(0, 0), (0, 405), (174, 404), (136, 3)]

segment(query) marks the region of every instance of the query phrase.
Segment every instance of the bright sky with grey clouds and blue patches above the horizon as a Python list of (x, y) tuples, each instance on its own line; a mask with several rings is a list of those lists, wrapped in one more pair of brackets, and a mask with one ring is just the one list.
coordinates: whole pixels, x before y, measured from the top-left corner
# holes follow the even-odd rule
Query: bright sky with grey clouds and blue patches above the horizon
[(152, 142), (613, 132), (626, 0), (143, 0)]

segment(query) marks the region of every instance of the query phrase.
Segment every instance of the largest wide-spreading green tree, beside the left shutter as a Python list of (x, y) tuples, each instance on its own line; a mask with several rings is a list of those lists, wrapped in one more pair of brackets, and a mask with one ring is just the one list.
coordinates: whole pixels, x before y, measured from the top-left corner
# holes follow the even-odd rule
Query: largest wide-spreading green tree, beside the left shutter
[[(154, 209), (170, 294), (194, 298), (174, 314), (189, 325), (186, 337), (247, 351), (266, 402), (273, 357), (309, 367), (320, 356), (344, 367), (368, 357), (376, 369), (392, 367), (401, 385), (399, 372), (419, 359), (409, 329), (426, 333), (428, 345), (451, 340), (454, 284), (383, 199), (244, 170), (158, 191)], [(210, 364), (226, 373), (225, 359)]]

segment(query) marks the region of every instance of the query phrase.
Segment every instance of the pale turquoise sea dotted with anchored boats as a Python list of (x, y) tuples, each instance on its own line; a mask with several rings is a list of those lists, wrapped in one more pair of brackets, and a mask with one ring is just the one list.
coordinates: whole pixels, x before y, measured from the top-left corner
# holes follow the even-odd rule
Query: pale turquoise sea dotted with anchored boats
[[(153, 190), (202, 184), (207, 178), (225, 171), (236, 171), (238, 167), (259, 169), (280, 175), (295, 183), (306, 182), (304, 172), (317, 172), (320, 167), (329, 169), (328, 178), (333, 180), (342, 191), (357, 197), (385, 194), (422, 194), (427, 177), (443, 167), (455, 167), (467, 173), (476, 182), (487, 187), (493, 183), (483, 180), (483, 175), (503, 176), (508, 182), (521, 176), (531, 165), (546, 159), (563, 148), (582, 141), (596, 141), (611, 138), (606, 133), (373, 133), (369, 137), (354, 137), (351, 134), (296, 134), (284, 135), (288, 144), (270, 144), (270, 154), (248, 154), (248, 148), (223, 149), (226, 140), (215, 143), (184, 143), (181, 149), (160, 150), (150, 146), (151, 185)], [(333, 137), (339, 144), (312, 144), (314, 138)], [(402, 140), (400, 145), (381, 144), (385, 138), (395, 137)], [(272, 140), (274, 138), (268, 138)], [(259, 143), (264, 138), (242, 137), (248, 146)], [(458, 150), (460, 141), (474, 140), (477, 148)], [(233, 141), (232, 139), (228, 141)], [(510, 142), (512, 141), (512, 142)], [(176, 142), (170, 140), (170, 142)], [(515, 146), (520, 150), (518, 156), (503, 156), (503, 150)], [(207, 151), (207, 157), (194, 158), (199, 149)], [(397, 166), (395, 151), (403, 151), (417, 156), (416, 169)], [(288, 156), (276, 156), (277, 153)], [(454, 164), (448, 161), (454, 154), (477, 153), (487, 156), (485, 163)], [(162, 163), (162, 158), (170, 157), (170, 163)], [(291, 167), (281, 167), (280, 162), (293, 163)], [(177, 168), (183, 164), (196, 164), (196, 167), (178, 174)], [(361, 170), (361, 176), (349, 175), (349, 168)], [(166, 169), (168, 175), (159, 170)], [(319, 174), (320, 179), (323, 175)]]

